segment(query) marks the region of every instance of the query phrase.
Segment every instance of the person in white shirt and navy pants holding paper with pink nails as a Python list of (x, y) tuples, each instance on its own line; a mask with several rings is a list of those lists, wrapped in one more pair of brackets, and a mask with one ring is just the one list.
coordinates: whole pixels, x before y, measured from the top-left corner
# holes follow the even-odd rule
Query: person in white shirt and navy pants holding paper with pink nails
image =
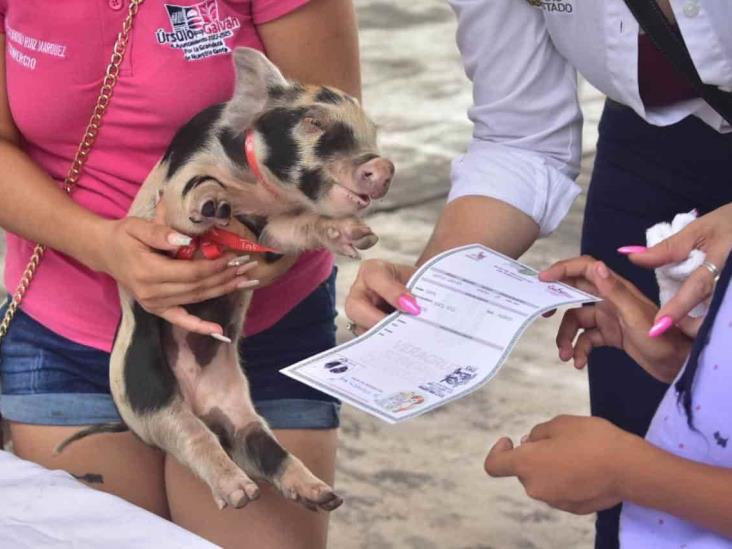
[[(701, 80), (732, 89), (732, 3), (657, 2)], [(453, 162), (448, 203), (418, 264), (473, 242), (518, 257), (559, 225), (580, 192), (579, 72), (608, 97), (582, 253), (657, 300), (652, 271), (617, 250), (636, 250), (647, 227), (677, 213), (704, 214), (732, 202), (730, 124), (653, 46), (623, 0), (450, 3), (473, 82), (473, 139)], [(724, 257), (709, 260), (724, 264)], [(354, 333), (393, 307), (419, 312), (404, 286), (413, 271), (380, 260), (362, 264), (346, 302)], [(690, 309), (677, 307), (671, 321)], [(593, 351), (589, 379), (593, 415), (639, 435), (667, 388), (610, 348)], [(619, 513), (617, 506), (598, 515), (596, 547), (618, 546)]]

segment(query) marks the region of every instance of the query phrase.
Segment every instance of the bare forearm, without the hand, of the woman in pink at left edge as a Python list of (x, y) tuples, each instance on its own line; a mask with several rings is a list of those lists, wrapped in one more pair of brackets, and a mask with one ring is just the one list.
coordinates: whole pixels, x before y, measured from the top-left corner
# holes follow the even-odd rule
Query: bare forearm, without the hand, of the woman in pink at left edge
[(73, 202), (14, 143), (0, 140), (0, 226), (98, 268), (105, 220)]

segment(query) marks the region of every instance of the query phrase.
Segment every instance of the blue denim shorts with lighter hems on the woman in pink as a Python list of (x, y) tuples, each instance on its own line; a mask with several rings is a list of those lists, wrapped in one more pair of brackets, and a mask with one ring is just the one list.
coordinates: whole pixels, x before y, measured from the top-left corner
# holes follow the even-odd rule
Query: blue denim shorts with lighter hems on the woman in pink
[[(252, 400), (274, 429), (339, 425), (336, 399), (279, 373), (335, 345), (335, 275), (272, 328), (242, 342)], [(18, 311), (0, 345), (0, 415), (38, 425), (121, 421), (109, 391), (109, 353), (69, 341)]]

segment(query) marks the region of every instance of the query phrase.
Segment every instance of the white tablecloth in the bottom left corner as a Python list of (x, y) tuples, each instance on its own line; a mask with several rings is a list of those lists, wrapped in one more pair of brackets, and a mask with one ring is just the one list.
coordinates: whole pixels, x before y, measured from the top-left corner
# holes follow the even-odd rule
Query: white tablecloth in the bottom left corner
[(0, 451), (0, 547), (214, 549), (204, 539), (63, 471)]

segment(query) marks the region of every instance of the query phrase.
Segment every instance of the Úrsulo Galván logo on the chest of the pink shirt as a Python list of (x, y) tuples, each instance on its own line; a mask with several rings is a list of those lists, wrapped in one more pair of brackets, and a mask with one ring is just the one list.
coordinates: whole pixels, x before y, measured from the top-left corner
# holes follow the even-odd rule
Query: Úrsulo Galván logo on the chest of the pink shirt
[(231, 52), (226, 40), (241, 26), (236, 17), (219, 18), (217, 0), (203, 0), (191, 6), (165, 4), (171, 31), (158, 29), (155, 38), (161, 46), (183, 51), (187, 61)]

